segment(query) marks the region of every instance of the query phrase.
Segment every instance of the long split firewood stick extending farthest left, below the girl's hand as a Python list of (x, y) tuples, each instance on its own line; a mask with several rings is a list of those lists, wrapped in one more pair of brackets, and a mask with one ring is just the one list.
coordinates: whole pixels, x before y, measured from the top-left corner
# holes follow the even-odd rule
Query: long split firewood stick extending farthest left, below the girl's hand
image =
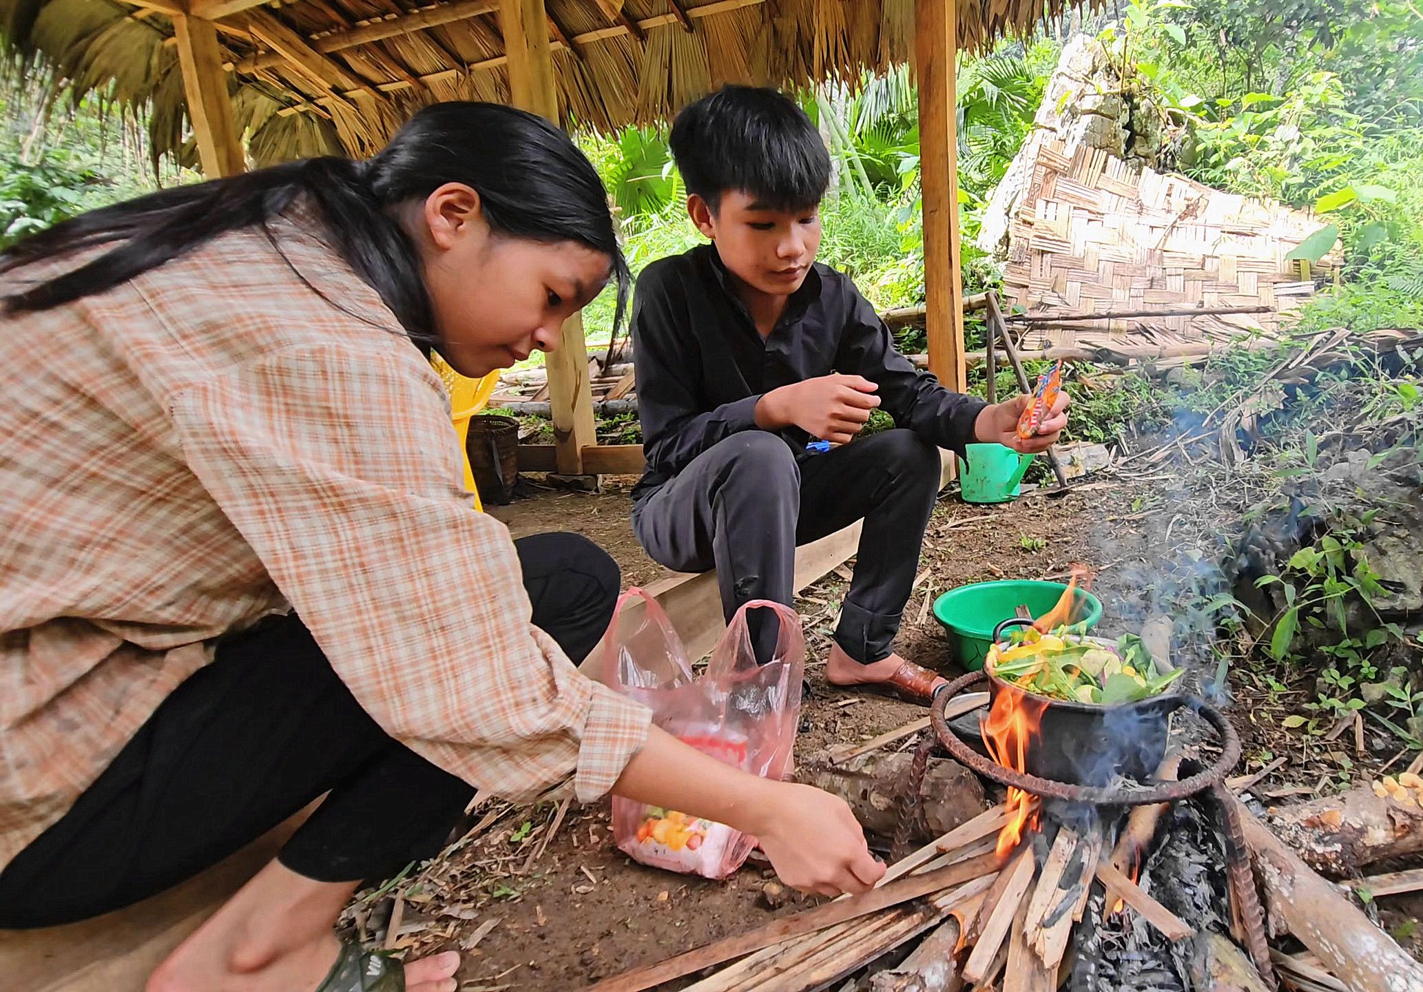
[(687, 951), (686, 954), (679, 954), (653, 965), (635, 968), (623, 972), (622, 975), (615, 975), (601, 982), (595, 982), (588, 988), (602, 989), (602, 992), (643, 992), (643, 989), (650, 989), (662, 982), (670, 982), (682, 978), (683, 975), (699, 972), (703, 968), (720, 965), (731, 958), (740, 958), (744, 954), (760, 951), (761, 948), (780, 944), (793, 936), (814, 934), (825, 929), (827, 927), (842, 924), (847, 919), (857, 919), (859, 917), (899, 905), (901, 902), (916, 899), (942, 888), (982, 878), (983, 875), (992, 874), (996, 868), (998, 858), (995, 855), (988, 855), (973, 861), (965, 861), (963, 864), (941, 868), (939, 871), (931, 871), (924, 875), (901, 878), (874, 891), (854, 895), (848, 899), (827, 902), (815, 907), (814, 909), (798, 912), (794, 917), (774, 919), (750, 932), (737, 934), (736, 936), (714, 941), (713, 944), (704, 944), (699, 948)]

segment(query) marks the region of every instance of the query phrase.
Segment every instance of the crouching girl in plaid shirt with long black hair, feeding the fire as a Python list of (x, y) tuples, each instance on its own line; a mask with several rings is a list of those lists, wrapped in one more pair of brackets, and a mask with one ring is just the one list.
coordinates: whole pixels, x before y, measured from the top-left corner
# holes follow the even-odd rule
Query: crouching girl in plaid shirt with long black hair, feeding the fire
[(151, 992), (454, 989), (332, 932), (475, 788), (565, 780), (720, 820), (834, 895), (848, 807), (649, 727), (569, 660), (616, 565), (471, 512), (431, 349), (484, 376), (628, 272), (559, 130), (420, 111), (312, 159), (88, 213), (0, 256), (0, 927), (92, 917), (323, 797)]

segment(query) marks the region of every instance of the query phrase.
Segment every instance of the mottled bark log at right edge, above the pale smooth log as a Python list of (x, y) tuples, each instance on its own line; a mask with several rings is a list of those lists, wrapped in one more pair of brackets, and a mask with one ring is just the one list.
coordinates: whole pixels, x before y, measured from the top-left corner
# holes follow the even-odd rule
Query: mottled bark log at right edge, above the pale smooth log
[(1342, 796), (1271, 810), (1269, 824), (1299, 857), (1325, 875), (1356, 875), (1363, 867), (1423, 851), (1423, 800), (1419, 790), (1403, 794), (1409, 806), (1379, 797), (1372, 787)]

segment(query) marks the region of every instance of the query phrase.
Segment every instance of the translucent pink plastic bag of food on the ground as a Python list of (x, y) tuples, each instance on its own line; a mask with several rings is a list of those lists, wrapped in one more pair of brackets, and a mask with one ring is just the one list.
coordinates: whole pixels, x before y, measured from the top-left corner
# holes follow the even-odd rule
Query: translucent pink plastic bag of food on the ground
[[(746, 629), (750, 609), (780, 618), (776, 655), (756, 663)], [(642, 589), (618, 601), (596, 679), (646, 705), (653, 722), (697, 750), (764, 779), (790, 770), (800, 724), (805, 639), (788, 606), (757, 599), (731, 618), (702, 677), (667, 615)], [(676, 810), (613, 797), (613, 840), (635, 861), (706, 878), (726, 878), (746, 861), (756, 838)]]

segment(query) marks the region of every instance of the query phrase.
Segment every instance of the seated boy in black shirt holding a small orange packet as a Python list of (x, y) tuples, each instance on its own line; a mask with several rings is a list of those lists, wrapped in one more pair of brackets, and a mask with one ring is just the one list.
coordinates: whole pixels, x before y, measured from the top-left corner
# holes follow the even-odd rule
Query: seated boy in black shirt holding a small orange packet
[[(891, 643), (939, 487), (938, 448), (1043, 451), (1067, 423), (1066, 396), (1020, 441), (1026, 397), (988, 406), (951, 393), (895, 350), (854, 283), (815, 263), (830, 157), (781, 94), (703, 98), (677, 117), (672, 152), (712, 243), (638, 280), (638, 539), (667, 568), (716, 566), (730, 619), (750, 599), (793, 603), (795, 547), (864, 517), (827, 679), (926, 699), (943, 680)], [(857, 441), (875, 408), (896, 430)], [(838, 447), (818, 453), (814, 441)], [(774, 618), (753, 615), (751, 630), (764, 662)]]

